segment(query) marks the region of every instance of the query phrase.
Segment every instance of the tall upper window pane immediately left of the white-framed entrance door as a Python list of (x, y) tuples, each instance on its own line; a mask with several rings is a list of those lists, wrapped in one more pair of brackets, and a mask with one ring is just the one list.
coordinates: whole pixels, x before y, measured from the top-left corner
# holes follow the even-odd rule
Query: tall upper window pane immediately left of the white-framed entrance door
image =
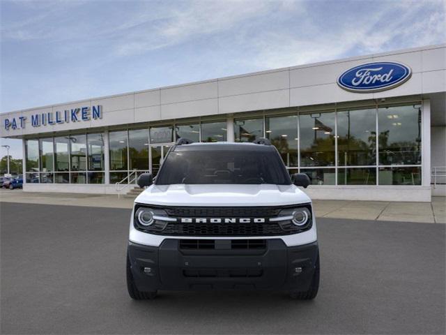
[(148, 170), (148, 129), (128, 132), (129, 170)]

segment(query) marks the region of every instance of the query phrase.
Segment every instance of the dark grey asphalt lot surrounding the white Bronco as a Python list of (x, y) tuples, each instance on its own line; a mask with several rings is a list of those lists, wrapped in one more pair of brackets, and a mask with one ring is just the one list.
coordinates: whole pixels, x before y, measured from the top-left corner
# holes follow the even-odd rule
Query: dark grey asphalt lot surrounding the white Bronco
[(321, 288), (125, 286), (128, 209), (0, 203), (2, 334), (445, 334), (444, 224), (318, 220)]

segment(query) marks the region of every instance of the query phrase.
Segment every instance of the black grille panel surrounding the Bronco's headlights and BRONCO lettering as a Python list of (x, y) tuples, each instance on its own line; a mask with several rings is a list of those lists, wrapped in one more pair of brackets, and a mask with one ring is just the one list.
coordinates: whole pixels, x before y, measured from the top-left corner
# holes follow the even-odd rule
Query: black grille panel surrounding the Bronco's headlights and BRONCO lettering
[[(291, 221), (270, 222), (268, 218), (279, 216), (283, 209), (307, 207), (312, 212), (311, 204), (295, 204), (282, 207), (160, 207), (149, 204), (136, 204), (137, 207), (151, 207), (164, 210), (171, 218), (178, 218), (177, 222), (168, 222), (158, 229), (157, 225), (147, 228), (135, 226), (138, 230), (150, 234), (169, 236), (194, 237), (252, 237), (252, 236), (280, 236), (296, 234), (309, 230), (309, 225), (297, 227)], [(266, 218), (265, 223), (181, 223), (180, 218)]]

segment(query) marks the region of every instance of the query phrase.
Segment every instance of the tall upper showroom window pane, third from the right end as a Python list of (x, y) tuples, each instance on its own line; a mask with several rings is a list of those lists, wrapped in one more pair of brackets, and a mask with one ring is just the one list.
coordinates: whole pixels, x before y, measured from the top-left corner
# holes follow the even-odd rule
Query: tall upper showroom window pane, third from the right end
[(334, 112), (302, 114), (300, 165), (334, 165)]

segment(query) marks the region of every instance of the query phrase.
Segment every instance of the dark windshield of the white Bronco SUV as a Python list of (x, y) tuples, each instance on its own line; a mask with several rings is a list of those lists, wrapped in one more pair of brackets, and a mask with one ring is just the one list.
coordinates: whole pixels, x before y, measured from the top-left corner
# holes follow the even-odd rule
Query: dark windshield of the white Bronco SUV
[(291, 180), (275, 150), (171, 151), (155, 184), (275, 184)]

